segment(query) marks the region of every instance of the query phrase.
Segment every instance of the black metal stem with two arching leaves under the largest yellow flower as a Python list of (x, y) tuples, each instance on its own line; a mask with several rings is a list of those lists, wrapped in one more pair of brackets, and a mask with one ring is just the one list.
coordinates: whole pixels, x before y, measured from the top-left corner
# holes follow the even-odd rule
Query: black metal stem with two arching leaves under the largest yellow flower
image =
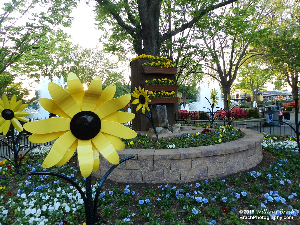
[[(81, 198), (83, 200), (84, 208), (85, 208), (85, 220), (86, 220), (85, 223), (86, 223), (86, 225), (95, 225), (96, 224), (96, 217), (97, 217), (98, 198), (99, 198), (101, 187), (103, 186), (104, 181), (107, 179), (108, 175), (117, 166), (119, 166), (121, 163), (125, 162), (126, 160), (132, 159), (134, 157), (135, 156), (133, 156), (133, 155), (125, 157), (125, 158), (123, 158), (123, 159), (120, 160), (119, 164), (113, 165), (112, 167), (110, 167), (110, 169), (105, 173), (105, 175), (101, 179), (100, 183), (98, 184), (98, 188), (97, 188), (96, 193), (95, 193), (94, 203), (92, 201), (92, 192), (91, 192), (91, 175), (88, 176), (86, 178), (86, 181), (85, 181), (85, 193), (86, 193), (86, 197), (85, 197), (85, 194), (81, 190), (81, 187), (79, 187), (79, 185), (75, 181), (73, 181), (72, 179), (68, 178), (67, 176), (62, 175), (61, 173), (56, 173), (56, 172), (52, 172), (52, 171), (32, 171), (32, 172), (30, 172), (28, 174), (29, 175), (49, 175), (49, 176), (55, 176), (55, 177), (62, 178), (65, 181), (67, 181), (70, 184), (72, 184), (72, 186), (75, 187), (79, 191), (79, 193), (81, 195)], [(101, 222), (101, 223), (103, 223), (103, 222)]]

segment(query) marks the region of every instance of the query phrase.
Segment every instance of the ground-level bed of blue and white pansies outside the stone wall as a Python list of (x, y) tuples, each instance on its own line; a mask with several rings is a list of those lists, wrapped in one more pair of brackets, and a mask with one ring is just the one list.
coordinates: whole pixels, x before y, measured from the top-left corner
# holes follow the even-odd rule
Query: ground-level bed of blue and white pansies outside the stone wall
[[(293, 216), (286, 219), (286, 224), (298, 225), (300, 167), (294, 140), (289, 136), (265, 135), (262, 145), (268, 154), (262, 162), (265, 164), (225, 178), (172, 185), (107, 182), (101, 190), (98, 218), (116, 225), (164, 225), (165, 221), (173, 225), (198, 221), (210, 225), (281, 224), (282, 220), (274, 219), (278, 215)], [(7, 161), (0, 163), (1, 225), (83, 224), (82, 198), (76, 189), (58, 178), (27, 175), (29, 171), (43, 170), (39, 165), (48, 152), (49, 148), (43, 147), (30, 154), (21, 166), (19, 177), (14, 171), (10, 176)], [(85, 181), (77, 173), (76, 157), (64, 166), (48, 170), (53, 169), (77, 180), (83, 187)], [(270, 218), (240, 219), (241, 215), (250, 214)]]

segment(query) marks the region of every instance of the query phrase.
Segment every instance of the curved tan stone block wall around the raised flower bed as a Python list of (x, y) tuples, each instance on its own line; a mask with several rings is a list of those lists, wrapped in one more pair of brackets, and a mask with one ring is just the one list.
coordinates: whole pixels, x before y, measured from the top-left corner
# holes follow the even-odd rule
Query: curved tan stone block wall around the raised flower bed
[[(203, 128), (190, 127), (195, 133)], [(134, 155), (112, 171), (108, 179), (125, 183), (179, 183), (212, 179), (255, 167), (262, 160), (264, 136), (248, 129), (236, 141), (183, 149), (124, 149), (120, 159)], [(112, 166), (100, 157), (100, 167), (93, 172), (102, 178)]]

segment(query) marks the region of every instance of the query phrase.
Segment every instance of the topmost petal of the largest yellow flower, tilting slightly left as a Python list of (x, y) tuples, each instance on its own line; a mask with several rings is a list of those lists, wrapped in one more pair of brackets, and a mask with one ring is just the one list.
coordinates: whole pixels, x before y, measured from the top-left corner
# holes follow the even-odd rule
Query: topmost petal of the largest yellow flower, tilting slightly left
[(74, 98), (78, 107), (81, 110), (82, 98), (85, 94), (85, 91), (83, 89), (83, 86), (78, 76), (76, 76), (75, 73), (69, 73), (67, 78), (67, 84), (68, 84), (67, 91), (69, 92), (70, 95), (72, 95), (72, 97)]

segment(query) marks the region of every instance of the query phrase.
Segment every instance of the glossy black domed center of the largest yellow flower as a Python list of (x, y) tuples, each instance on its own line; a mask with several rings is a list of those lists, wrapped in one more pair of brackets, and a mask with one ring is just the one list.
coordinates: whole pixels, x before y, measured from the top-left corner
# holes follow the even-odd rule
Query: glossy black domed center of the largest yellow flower
[(80, 140), (90, 140), (99, 134), (101, 120), (96, 113), (82, 111), (71, 119), (70, 130), (74, 137)]

